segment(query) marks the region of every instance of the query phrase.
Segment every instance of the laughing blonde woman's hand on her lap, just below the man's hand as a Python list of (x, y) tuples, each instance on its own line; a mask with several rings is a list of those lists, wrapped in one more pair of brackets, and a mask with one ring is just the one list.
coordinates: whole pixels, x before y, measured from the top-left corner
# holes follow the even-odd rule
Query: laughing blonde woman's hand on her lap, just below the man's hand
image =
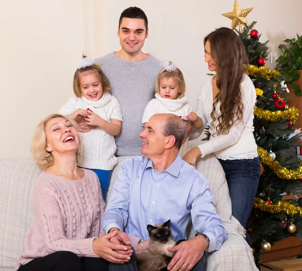
[(114, 244), (109, 240), (117, 235), (117, 232), (105, 234), (99, 238), (93, 240), (92, 248), (93, 251), (101, 258), (111, 261), (113, 263), (124, 263), (129, 261), (130, 255), (118, 253), (114, 250), (131, 250), (131, 246)]

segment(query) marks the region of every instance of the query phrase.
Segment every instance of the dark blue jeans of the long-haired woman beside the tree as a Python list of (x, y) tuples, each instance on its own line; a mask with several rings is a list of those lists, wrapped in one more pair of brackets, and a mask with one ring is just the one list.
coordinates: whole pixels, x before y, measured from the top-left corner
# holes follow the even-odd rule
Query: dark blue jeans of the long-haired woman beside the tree
[[(246, 228), (260, 177), (260, 161), (254, 159), (221, 160), (232, 201), (232, 215)], [(247, 242), (251, 244), (247, 234)]]

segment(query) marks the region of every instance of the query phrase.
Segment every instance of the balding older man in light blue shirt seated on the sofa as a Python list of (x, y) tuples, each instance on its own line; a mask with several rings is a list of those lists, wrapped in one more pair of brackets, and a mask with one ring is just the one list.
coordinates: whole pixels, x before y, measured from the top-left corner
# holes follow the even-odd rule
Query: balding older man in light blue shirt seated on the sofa
[(129, 244), (122, 230), (147, 240), (147, 224), (171, 219), (173, 238), (179, 240), (186, 238), (192, 219), (198, 233), (169, 248), (176, 254), (168, 270), (204, 270), (204, 251), (219, 249), (227, 237), (206, 178), (178, 155), (185, 137), (184, 123), (172, 114), (154, 115), (139, 136), (143, 156), (123, 162), (103, 228), (106, 232), (117, 230), (121, 240)]

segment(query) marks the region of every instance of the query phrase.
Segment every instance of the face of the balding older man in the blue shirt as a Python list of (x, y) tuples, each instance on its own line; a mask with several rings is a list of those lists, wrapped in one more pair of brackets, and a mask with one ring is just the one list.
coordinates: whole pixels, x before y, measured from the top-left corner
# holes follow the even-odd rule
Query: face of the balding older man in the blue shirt
[(163, 117), (155, 115), (149, 119), (145, 129), (139, 133), (141, 138), (141, 154), (148, 158), (160, 155), (165, 150), (166, 137), (163, 135), (165, 120)]

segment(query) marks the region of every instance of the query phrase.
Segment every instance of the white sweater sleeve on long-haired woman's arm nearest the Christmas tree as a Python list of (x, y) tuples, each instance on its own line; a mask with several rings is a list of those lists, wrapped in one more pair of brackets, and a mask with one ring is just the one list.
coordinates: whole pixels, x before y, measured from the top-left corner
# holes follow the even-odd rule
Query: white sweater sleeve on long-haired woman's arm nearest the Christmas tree
[(247, 123), (247, 120), (254, 113), (254, 106), (256, 103), (256, 91), (252, 80), (246, 75), (244, 81), (241, 83), (242, 103), (243, 103), (243, 117), (241, 121), (235, 122), (230, 128), (229, 133), (225, 135), (218, 135), (211, 138), (204, 144), (199, 145), (201, 157), (209, 153), (223, 150), (238, 142), (242, 131)]

